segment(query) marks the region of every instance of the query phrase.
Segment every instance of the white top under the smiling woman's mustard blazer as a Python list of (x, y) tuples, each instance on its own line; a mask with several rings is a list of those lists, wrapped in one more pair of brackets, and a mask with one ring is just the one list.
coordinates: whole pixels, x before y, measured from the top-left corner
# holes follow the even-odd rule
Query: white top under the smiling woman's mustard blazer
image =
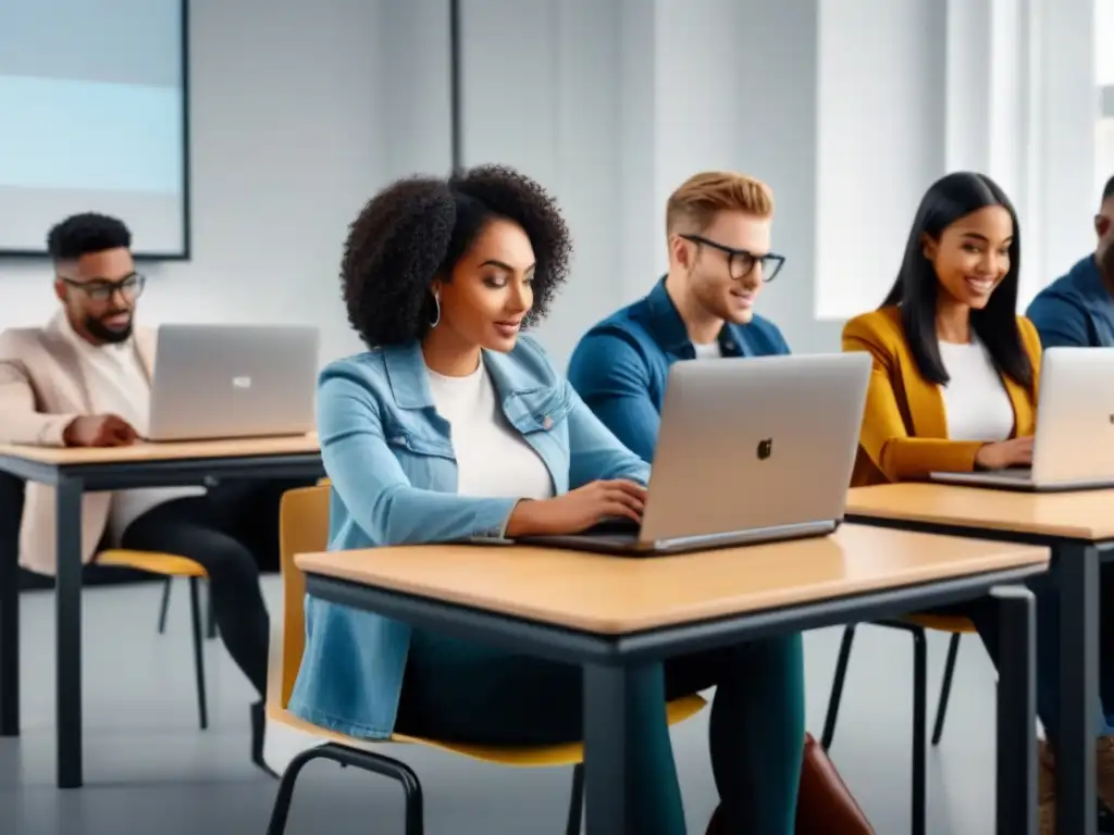
[(950, 380), (940, 386), (951, 441), (1005, 441), (1014, 431), (1014, 406), (983, 343), (940, 343)]

